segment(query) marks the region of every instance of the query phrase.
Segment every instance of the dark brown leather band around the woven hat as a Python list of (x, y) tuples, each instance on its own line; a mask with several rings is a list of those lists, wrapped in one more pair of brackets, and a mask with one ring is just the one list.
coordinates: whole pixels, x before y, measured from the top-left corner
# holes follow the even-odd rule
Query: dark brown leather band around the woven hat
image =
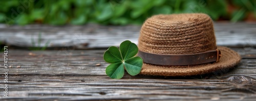
[(140, 56), (145, 63), (159, 65), (193, 65), (215, 61), (218, 62), (221, 52), (216, 49), (197, 54), (170, 55), (147, 53), (139, 50), (137, 55)]

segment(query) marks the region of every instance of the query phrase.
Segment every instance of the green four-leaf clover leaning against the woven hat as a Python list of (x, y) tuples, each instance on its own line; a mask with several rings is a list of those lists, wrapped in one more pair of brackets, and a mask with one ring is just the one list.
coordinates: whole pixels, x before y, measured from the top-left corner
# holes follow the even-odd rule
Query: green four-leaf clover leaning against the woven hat
[(111, 63), (106, 67), (106, 75), (112, 79), (121, 79), (124, 69), (132, 76), (139, 74), (143, 61), (141, 57), (135, 56), (137, 53), (137, 45), (128, 40), (120, 44), (120, 50), (111, 46), (103, 55), (103, 59)]

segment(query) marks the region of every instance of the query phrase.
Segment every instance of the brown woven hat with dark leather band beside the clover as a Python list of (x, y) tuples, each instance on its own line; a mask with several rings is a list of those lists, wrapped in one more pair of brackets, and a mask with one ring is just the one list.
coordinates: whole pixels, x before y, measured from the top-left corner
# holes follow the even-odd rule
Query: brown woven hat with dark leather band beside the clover
[(202, 13), (148, 18), (141, 27), (138, 48), (143, 75), (201, 75), (232, 68), (241, 59), (237, 52), (216, 46), (212, 20)]

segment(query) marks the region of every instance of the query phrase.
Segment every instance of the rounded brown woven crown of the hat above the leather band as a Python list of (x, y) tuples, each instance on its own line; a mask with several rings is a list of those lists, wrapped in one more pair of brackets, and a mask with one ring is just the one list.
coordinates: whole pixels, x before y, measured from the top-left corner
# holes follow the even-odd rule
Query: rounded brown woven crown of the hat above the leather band
[(202, 13), (156, 15), (142, 25), (140, 51), (156, 54), (194, 54), (214, 50), (211, 18)]

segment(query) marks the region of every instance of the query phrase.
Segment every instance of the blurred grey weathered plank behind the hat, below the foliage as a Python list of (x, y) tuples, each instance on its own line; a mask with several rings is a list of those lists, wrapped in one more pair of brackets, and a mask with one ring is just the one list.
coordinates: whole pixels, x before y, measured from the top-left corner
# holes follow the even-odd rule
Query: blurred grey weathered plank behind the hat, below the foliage
[[(214, 23), (217, 45), (232, 47), (255, 47), (255, 23)], [(119, 46), (125, 40), (137, 43), (140, 26), (83, 26), (0, 25), (0, 41), (9, 46), (31, 47), (32, 39), (37, 43), (41, 33), (40, 47), (50, 41), (49, 47), (72, 47), (75, 49), (106, 48)], [(37, 44), (36, 44), (37, 46)]]

